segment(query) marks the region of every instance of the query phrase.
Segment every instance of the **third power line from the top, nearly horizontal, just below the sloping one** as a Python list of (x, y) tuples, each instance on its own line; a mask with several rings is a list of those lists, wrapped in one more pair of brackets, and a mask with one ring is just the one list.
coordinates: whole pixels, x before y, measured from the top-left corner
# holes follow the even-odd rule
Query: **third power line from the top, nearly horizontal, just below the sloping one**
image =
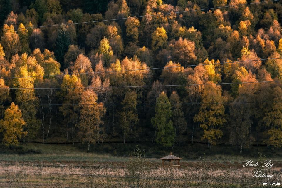
[(170, 87), (170, 86), (202, 86), (202, 85), (225, 85), (225, 84), (250, 84), (250, 83), (269, 83), (269, 82), (281, 82), (282, 80), (273, 81), (248, 81), (248, 82), (229, 82), (229, 83), (206, 83), (206, 84), (179, 84), (179, 85), (152, 85), (152, 86), (111, 86), (111, 87), (39, 87), (39, 88), (4, 88), (0, 89), (94, 89), (94, 88), (138, 88), (138, 87)]

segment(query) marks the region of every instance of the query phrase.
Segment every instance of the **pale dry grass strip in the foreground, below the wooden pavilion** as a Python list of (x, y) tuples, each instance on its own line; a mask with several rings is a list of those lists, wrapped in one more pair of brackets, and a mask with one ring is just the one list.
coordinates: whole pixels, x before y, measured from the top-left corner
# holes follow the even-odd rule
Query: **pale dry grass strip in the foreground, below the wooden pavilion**
[[(160, 188), (259, 187), (262, 186), (262, 181), (266, 181), (251, 178), (254, 174), (252, 170), (241, 169), (150, 169), (142, 177), (132, 178), (126, 175), (125, 168), (42, 167), (19, 164), (2, 165), (0, 168), (11, 170), (0, 171), (0, 184), (4, 187), (137, 187), (136, 182), (139, 182), (138, 187)], [(271, 173), (275, 174), (272, 181), (282, 179), (281, 172)]]

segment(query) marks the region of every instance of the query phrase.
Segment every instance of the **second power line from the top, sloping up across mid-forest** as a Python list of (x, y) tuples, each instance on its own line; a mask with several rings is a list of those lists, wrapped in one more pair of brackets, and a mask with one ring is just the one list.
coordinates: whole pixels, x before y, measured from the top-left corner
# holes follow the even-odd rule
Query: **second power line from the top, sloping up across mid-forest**
[(155, 70), (155, 69), (171, 69), (171, 68), (179, 68), (179, 67), (194, 67), (194, 66), (206, 66), (206, 65), (218, 65), (218, 64), (226, 64), (226, 63), (244, 63), (251, 61), (267, 61), (274, 59), (282, 59), (282, 57), (278, 58), (269, 58), (269, 59), (253, 59), (253, 60), (244, 60), (244, 61), (230, 61), (230, 62), (222, 62), (222, 63), (209, 63), (209, 64), (195, 64), (195, 65), (183, 65), (183, 66), (168, 66), (168, 67), (157, 67), (157, 68), (148, 68), (148, 69), (131, 69), (131, 70), (119, 70), (119, 71), (99, 71), (99, 72), (85, 72), (85, 73), (73, 73), (73, 74), (54, 74), (54, 75), (42, 75), (42, 76), (17, 76), (17, 77), (5, 77), (2, 79), (16, 79), (16, 78), (36, 78), (36, 77), (49, 77), (49, 76), (65, 76), (65, 75), (80, 75), (80, 74), (103, 74), (103, 73), (113, 73), (113, 72), (128, 72), (128, 71), (145, 71), (145, 70)]

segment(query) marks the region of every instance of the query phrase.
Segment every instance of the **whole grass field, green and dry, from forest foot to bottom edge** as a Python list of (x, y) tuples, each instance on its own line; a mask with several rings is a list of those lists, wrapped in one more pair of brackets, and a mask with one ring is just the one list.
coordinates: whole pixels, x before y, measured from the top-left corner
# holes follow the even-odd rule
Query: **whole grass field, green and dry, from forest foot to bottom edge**
[[(145, 166), (128, 168), (129, 157), (92, 149), (31, 143), (14, 150), (1, 147), (0, 187), (263, 187), (268, 181), (252, 178), (255, 169), (242, 167), (246, 156), (202, 155), (183, 159), (179, 170), (162, 169), (161, 160), (152, 157)], [(281, 159), (271, 159), (274, 167), (266, 173), (280, 181)]]

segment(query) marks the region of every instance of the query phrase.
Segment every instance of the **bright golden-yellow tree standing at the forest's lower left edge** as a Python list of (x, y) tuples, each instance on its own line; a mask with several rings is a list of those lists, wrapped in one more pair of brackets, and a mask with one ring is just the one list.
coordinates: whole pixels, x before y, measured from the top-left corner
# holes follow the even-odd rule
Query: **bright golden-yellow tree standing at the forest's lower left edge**
[(11, 106), (5, 110), (4, 119), (0, 120), (0, 132), (3, 133), (3, 142), (6, 146), (13, 147), (19, 144), (18, 139), (27, 135), (27, 132), (23, 131), (25, 124), (21, 110), (12, 102)]

